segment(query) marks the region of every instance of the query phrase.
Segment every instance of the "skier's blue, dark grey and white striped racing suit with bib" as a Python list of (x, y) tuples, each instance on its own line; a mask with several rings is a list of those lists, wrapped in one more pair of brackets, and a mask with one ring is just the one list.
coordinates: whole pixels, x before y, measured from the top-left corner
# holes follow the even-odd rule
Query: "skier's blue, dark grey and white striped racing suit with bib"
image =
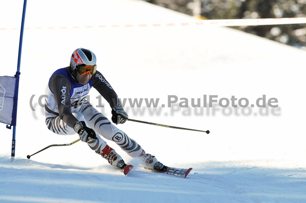
[(73, 78), (69, 67), (55, 71), (46, 88), (45, 115), (48, 129), (56, 134), (71, 135), (75, 134), (75, 123), (84, 121), (98, 134), (98, 139), (88, 143), (96, 153), (103, 150), (107, 144), (99, 136), (101, 135), (117, 143), (130, 156), (138, 157), (142, 153), (140, 145), (116, 128), (86, 100), (92, 87), (108, 101), (111, 108), (120, 106), (117, 94), (100, 72), (96, 71), (89, 82), (83, 85)]

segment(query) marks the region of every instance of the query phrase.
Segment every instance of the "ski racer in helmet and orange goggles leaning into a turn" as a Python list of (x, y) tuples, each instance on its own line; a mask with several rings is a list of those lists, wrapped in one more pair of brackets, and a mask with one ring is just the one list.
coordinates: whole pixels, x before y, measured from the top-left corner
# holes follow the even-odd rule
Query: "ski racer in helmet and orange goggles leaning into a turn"
[(135, 140), (111, 124), (86, 100), (92, 87), (110, 104), (112, 122), (116, 125), (125, 123), (128, 115), (112, 86), (96, 70), (95, 54), (88, 49), (78, 48), (71, 55), (70, 66), (58, 69), (49, 79), (46, 88), (48, 97), (45, 100), (48, 129), (60, 135), (78, 133), (82, 141), (113, 166), (124, 168), (126, 164), (100, 135), (114, 141), (130, 156), (140, 158), (145, 167), (161, 170), (163, 164), (155, 156), (146, 154)]

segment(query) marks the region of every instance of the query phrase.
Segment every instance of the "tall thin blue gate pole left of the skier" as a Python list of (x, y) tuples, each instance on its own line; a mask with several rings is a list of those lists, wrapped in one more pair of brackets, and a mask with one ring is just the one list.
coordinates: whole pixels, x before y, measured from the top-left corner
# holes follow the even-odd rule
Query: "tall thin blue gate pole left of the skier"
[[(23, 28), (24, 28), (24, 18), (25, 18), (25, 8), (27, 7), (27, 0), (23, 2), (23, 11), (22, 11), (22, 20), (21, 20), (21, 30), (20, 30), (20, 40), (19, 40), (19, 51), (18, 51), (18, 64), (17, 64), (17, 72), (16, 72), (16, 83), (15, 83), (15, 92), (14, 98), (18, 98), (18, 88), (19, 88), (19, 75), (20, 75), (20, 61), (21, 61), (21, 49), (22, 49), (22, 39), (23, 39)], [(17, 119), (17, 99), (14, 101), (14, 115), (12, 120), (16, 121)], [(16, 151), (16, 125), (13, 126), (13, 139), (12, 139), (12, 154), (11, 161), (15, 159), (15, 151)]]

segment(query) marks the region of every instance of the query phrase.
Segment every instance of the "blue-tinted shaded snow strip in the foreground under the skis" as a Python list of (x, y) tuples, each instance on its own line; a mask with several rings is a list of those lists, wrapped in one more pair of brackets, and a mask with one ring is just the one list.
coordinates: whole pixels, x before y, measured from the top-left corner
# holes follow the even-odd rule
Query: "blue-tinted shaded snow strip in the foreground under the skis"
[(2, 202), (304, 202), (306, 198), (301, 169), (207, 162), (194, 164), (193, 174), (181, 179), (140, 169), (124, 177), (110, 166), (101, 171), (25, 159), (16, 160), (13, 167), (8, 161), (1, 164)]

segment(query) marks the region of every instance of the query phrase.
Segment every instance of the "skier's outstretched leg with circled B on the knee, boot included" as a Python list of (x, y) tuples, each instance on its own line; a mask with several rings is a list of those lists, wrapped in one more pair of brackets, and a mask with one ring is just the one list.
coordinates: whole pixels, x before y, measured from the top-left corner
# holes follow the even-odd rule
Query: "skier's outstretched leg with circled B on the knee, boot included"
[[(140, 158), (145, 167), (156, 168), (156, 165), (160, 163), (155, 156), (146, 154), (135, 140), (131, 139), (123, 131), (111, 124), (111, 122), (88, 101), (84, 103), (81, 112), (90, 128), (94, 129), (96, 133), (101, 134), (106, 139), (114, 141), (130, 156)], [(99, 149), (97, 149), (97, 151), (98, 150)]]

